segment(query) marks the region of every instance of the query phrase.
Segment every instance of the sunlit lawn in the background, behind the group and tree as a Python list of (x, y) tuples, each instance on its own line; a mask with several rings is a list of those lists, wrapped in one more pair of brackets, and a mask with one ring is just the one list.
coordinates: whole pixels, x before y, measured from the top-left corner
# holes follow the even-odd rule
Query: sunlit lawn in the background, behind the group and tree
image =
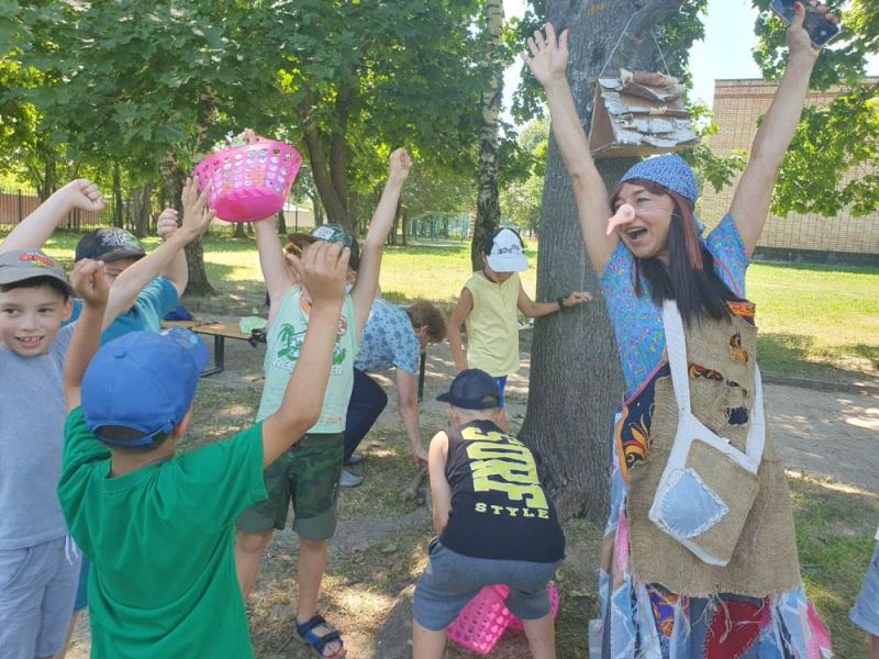
[[(58, 233), (47, 252), (70, 264), (77, 241), (76, 234)], [(188, 304), (214, 313), (264, 311), (253, 239), (211, 236), (204, 255), (218, 295)], [(468, 255), (466, 244), (389, 247), (381, 267), (382, 294), (396, 302), (433, 300), (450, 310), (470, 273)], [(534, 242), (527, 255), (531, 267), (522, 280), (533, 295)], [(748, 270), (747, 286), (757, 303), (766, 372), (843, 381), (879, 377), (879, 269), (757, 263)]]

